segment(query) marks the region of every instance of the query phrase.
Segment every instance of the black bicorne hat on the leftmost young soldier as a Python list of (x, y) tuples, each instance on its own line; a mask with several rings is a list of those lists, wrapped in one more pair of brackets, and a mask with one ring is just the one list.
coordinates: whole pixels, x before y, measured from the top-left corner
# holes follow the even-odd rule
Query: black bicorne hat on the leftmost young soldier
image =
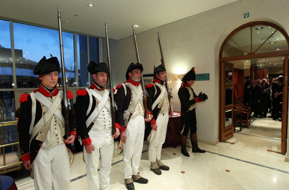
[(41, 75), (54, 71), (60, 72), (60, 65), (57, 57), (46, 60), (46, 57), (44, 56), (34, 68), (33, 74)]

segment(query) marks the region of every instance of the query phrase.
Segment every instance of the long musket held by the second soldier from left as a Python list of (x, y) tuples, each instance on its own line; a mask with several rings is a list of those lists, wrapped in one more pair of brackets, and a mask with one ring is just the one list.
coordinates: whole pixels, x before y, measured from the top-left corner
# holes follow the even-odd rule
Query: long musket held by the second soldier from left
[(107, 37), (107, 50), (108, 50), (108, 71), (109, 71), (109, 83), (110, 83), (110, 108), (111, 108), (111, 133), (115, 134), (115, 110), (117, 110), (116, 103), (114, 102), (113, 96), (113, 86), (112, 86), (112, 76), (111, 76), (111, 67), (110, 67), (110, 57), (109, 57), (109, 46), (108, 46), (108, 27), (106, 22), (106, 37)]

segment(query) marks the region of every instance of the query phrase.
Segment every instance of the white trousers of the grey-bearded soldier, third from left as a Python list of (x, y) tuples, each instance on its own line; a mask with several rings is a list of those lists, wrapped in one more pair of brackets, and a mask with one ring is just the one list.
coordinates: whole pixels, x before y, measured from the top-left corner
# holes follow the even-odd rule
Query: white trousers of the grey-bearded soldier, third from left
[(139, 172), (144, 146), (145, 119), (144, 116), (131, 118), (125, 129), (126, 143), (123, 144), (124, 179), (129, 179)]

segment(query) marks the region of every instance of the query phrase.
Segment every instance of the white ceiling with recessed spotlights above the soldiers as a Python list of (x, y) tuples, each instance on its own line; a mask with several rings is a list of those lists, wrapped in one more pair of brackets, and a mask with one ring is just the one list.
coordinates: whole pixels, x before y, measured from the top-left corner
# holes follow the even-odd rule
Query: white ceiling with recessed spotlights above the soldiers
[[(238, 0), (0, 0), (0, 17), (62, 30), (122, 39)], [(89, 7), (92, 3), (94, 6)], [(77, 15), (77, 16), (75, 16)], [(68, 22), (68, 26), (66, 26)]]

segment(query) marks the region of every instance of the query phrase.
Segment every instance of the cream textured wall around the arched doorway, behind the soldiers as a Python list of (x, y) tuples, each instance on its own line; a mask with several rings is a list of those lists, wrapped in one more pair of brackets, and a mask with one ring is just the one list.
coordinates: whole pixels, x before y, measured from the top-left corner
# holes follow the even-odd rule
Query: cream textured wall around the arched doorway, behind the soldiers
[[(168, 80), (173, 86), (175, 111), (180, 111), (177, 93), (181, 81), (173, 74), (186, 73), (192, 66), (196, 67), (197, 74), (210, 73), (209, 81), (196, 81), (193, 85), (196, 94), (202, 91), (209, 97), (198, 103), (197, 108), (198, 138), (203, 142), (214, 144), (218, 141), (218, 55), (223, 40), (237, 27), (253, 21), (272, 22), (288, 32), (288, 7), (289, 0), (240, 0), (146, 32), (138, 33), (138, 28), (135, 29), (144, 74), (152, 73), (153, 65), (160, 64), (157, 37), (160, 32)], [(246, 12), (250, 12), (250, 17), (245, 19)], [(142, 26), (142, 23), (138, 24)], [(133, 36), (114, 40), (109, 46), (115, 86), (125, 81), (128, 65), (137, 62)]]

